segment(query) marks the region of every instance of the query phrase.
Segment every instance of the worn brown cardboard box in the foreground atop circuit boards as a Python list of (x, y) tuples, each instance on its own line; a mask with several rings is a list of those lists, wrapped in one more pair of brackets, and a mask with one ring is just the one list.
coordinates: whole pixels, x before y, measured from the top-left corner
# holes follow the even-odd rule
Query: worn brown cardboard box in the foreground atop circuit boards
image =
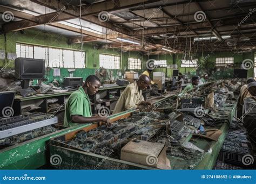
[(171, 169), (166, 158), (166, 147), (161, 143), (145, 140), (130, 141), (121, 150), (121, 160), (159, 169)]

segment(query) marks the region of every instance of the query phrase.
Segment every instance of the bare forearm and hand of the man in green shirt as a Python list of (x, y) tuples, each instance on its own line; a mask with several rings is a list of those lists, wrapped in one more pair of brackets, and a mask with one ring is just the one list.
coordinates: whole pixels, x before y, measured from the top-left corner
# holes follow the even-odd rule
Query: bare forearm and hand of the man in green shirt
[(111, 124), (111, 121), (107, 117), (84, 117), (80, 115), (71, 116), (73, 123), (93, 123), (93, 122), (104, 122), (107, 126)]

